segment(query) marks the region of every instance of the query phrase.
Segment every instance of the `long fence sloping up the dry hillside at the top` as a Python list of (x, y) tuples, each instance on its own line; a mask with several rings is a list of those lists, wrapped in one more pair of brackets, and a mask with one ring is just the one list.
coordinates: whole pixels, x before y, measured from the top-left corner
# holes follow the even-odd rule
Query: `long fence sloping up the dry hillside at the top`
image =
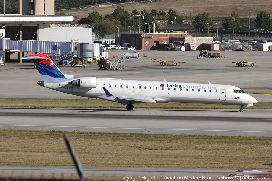
[(82, 7), (82, 8), (59, 9), (59, 10), (55, 10), (55, 14), (75, 12), (75, 11), (89, 11), (89, 10), (96, 10), (96, 9), (112, 8), (117, 6), (124, 7), (124, 6), (144, 5), (144, 4), (151, 4), (151, 3), (158, 3), (158, 2), (169, 2), (169, 1), (176, 1), (176, 0), (133, 1), (133, 2), (127, 2), (127, 3), (120, 3), (120, 4), (110, 3), (109, 5), (96, 5), (96, 6), (88, 6), (88, 7)]

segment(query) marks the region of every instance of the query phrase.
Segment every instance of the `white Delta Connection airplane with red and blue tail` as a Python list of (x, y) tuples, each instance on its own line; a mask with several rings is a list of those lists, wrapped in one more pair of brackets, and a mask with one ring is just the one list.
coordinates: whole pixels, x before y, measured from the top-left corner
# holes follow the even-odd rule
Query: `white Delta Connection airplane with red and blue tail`
[[(48, 55), (23, 57), (32, 59), (42, 81), (38, 84), (67, 94), (99, 98), (127, 105), (133, 110), (137, 103), (203, 103), (253, 106), (258, 101), (238, 87), (220, 84), (196, 84), (160, 81), (136, 81), (113, 78), (80, 77), (63, 74)], [(205, 106), (206, 106), (205, 105)]]

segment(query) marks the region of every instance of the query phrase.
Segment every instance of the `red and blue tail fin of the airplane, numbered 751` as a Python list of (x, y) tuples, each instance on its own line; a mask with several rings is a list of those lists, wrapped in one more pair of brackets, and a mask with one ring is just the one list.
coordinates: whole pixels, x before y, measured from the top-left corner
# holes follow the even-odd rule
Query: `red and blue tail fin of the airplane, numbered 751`
[(33, 60), (43, 80), (69, 79), (74, 77), (73, 75), (63, 74), (46, 54), (29, 55), (22, 57), (21, 59)]

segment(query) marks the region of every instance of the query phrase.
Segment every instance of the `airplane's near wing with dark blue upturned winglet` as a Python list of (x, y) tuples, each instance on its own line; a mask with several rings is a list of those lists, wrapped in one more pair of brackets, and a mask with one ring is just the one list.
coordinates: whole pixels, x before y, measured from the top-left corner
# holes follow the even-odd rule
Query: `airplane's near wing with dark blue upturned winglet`
[(107, 97), (115, 97), (114, 100), (117, 102), (121, 102), (121, 104), (127, 104), (131, 101), (134, 103), (156, 103), (156, 101), (152, 97), (134, 98), (134, 97), (122, 96), (120, 94), (112, 95), (105, 87), (103, 87), (103, 90), (105, 91)]

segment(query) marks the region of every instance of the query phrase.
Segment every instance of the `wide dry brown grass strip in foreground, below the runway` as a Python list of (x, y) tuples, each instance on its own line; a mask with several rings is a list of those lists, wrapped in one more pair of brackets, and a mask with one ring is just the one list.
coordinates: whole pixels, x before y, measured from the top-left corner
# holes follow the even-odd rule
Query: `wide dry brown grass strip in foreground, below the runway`
[[(61, 131), (0, 130), (1, 165), (72, 166)], [(68, 132), (83, 166), (270, 169), (270, 137)]]

